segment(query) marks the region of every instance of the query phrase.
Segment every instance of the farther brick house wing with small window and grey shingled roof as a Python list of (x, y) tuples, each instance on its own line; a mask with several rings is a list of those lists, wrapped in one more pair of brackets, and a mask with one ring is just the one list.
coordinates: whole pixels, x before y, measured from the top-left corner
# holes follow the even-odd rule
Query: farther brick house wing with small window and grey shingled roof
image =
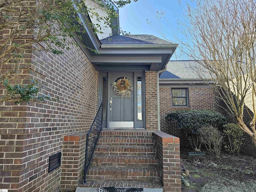
[[(214, 90), (206, 84), (210, 82), (210, 76), (204, 74), (205, 79), (202, 80), (191, 67), (196, 65), (194, 60), (170, 61), (167, 64), (167, 70), (163, 72), (159, 78), (160, 92), (160, 128), (162, 132), (174, 135), (180, 138), (180, 145), (189, 146), (190, 143), (182, 130), (173, 126), (171, 129), (166, 123), (165, 116), (174, 110), (213, 110), (222, 113), (229, 122), (236, 122), (230, 117), (223, 108), (220, 100), (215, 96)], [(176, 98), (180, 98), (182, 102)], [(250, 111), (251, 103), (246, 102), (248, 111)], [(246, 119), (245, 122), (249, 122)], [(244, 134), (244, 147), (242, 152), (256, 156), (256, 149), (251, 138)]]

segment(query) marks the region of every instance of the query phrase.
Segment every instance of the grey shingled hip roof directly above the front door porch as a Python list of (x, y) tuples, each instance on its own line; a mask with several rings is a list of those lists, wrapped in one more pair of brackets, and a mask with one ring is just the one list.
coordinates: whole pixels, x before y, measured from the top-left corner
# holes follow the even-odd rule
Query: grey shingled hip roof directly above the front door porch
[(102, 44), (124, 45), (124, 44), (172, 44), (154, 35), (112, 35), (100, 40)]

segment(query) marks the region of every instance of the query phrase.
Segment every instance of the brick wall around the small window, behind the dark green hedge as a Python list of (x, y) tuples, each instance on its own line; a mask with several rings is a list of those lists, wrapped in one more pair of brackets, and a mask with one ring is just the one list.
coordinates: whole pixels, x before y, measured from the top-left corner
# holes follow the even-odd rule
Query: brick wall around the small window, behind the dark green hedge
[[(183, 87), (184, 88), (184, 85)], [(217, 102), (214, 90), (210, 87), (189, 87), (188, 103), (189, 107), (172, 107), (171, 88), (160, 87), (160, 128), (161, 131), (180, 138), (180, 145), (190, 145), (184, 132), (173, 124), (168, 126), (165, 116), (175, 110), (217, 110)]]

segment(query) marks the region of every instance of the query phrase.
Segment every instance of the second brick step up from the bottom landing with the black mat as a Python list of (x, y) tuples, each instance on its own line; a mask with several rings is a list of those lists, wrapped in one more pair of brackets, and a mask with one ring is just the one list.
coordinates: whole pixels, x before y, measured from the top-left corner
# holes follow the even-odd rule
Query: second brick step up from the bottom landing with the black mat
[(104, 156), (94, 155), (91, 166), (114, 167), (157, 167), (158, 160), (155, 156)]

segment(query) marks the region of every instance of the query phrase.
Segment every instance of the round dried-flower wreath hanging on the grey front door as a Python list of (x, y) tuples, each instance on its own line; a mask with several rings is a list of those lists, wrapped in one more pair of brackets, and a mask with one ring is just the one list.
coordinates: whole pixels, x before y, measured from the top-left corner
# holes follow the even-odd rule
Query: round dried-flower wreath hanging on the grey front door
[(132, 83), (128, 78), (120, 77), (112, 83), (112, 88), (117, 95), (121, 97), (131, 97), (131, 91), (133, 91)]

